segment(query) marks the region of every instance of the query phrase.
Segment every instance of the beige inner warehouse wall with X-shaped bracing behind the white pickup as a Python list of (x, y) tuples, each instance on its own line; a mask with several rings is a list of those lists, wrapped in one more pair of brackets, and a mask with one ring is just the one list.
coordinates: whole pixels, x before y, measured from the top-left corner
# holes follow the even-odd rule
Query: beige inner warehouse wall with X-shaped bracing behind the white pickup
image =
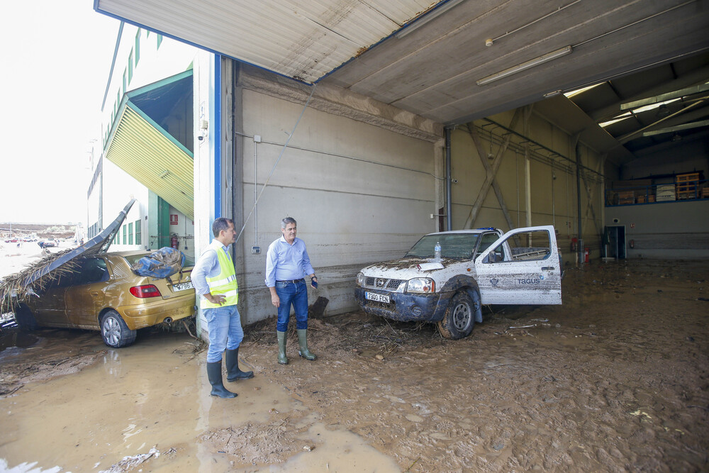
[[(489, 117), (494, 123), (475, 121), (468, 126), (457, 127), (452, 133), (452, 178), (457, 180), (452, 185), (454, 229), (463, 228), (486, 179), (486, 170), (468, 127), (479, 136), (484, 159), (492, 165), (493, 157), (510, 135), (505, 128), (510, 128), (514, 114), (515, 111), (500, 113)], [(520, 111), (520, 118), (511, 129), (522, 137), (510, 138), (496, 174), (511, 227), (554, 225), (564, 259), (573, 261), (569, 255), (570, 240), (579, 233), (574, 139), (561, 126), (550, 123), (533, 111), (527, 120)], [(601, 255), (603, 231), (602, 174), (605, 163), (603, 157), (587, 143), (579, 144), (579, 152), (584, 166), (582, 175), (586, 178), (581, 179), (582, 234), (591, 256), (598, 257)], [(492, 187), (471, 224), (472, 228), (489, 226), (503, 230), (510, 228)]]

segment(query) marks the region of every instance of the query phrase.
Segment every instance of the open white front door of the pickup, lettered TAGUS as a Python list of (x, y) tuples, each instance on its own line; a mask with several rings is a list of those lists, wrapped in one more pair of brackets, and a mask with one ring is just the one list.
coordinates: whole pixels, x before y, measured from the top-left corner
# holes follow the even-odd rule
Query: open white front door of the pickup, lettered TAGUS
[(475, 258), (482, 304), (562, 304), (553, 226), (515, 228)]

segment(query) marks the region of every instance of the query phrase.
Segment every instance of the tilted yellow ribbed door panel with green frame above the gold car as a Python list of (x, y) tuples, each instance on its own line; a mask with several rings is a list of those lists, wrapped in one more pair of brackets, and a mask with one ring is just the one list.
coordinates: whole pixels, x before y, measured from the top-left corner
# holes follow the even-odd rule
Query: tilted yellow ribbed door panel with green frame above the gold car
[(189, 218), (194, 218), (194, 157), (130, 101), (106, 158)]

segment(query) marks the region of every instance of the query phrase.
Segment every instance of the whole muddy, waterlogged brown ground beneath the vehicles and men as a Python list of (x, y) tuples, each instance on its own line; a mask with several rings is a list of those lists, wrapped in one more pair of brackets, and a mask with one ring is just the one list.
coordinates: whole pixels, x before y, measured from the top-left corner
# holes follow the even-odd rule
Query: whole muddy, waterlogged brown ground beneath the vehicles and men
[(120, 350), (77, 330), (4, 335), (0, 469), (707, 471), (708, 265), (571, 268), (562, 306), (486, 308), (465, 340), (311, 320), (318, 360), (291, 334), (287, 366), (271, 319), (245, 328), (256, 377), (226, 383), (236, 399), (208, 396), (186, 333)]

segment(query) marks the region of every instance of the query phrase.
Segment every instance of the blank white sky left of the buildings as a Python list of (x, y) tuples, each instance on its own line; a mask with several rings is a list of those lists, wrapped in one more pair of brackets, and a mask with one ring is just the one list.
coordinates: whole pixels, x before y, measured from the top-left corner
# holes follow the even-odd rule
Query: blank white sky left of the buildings
[(86, 221), (91, 140), (101, 137), (119, 25), (91, 0), (4, 6), (0, 222)]

